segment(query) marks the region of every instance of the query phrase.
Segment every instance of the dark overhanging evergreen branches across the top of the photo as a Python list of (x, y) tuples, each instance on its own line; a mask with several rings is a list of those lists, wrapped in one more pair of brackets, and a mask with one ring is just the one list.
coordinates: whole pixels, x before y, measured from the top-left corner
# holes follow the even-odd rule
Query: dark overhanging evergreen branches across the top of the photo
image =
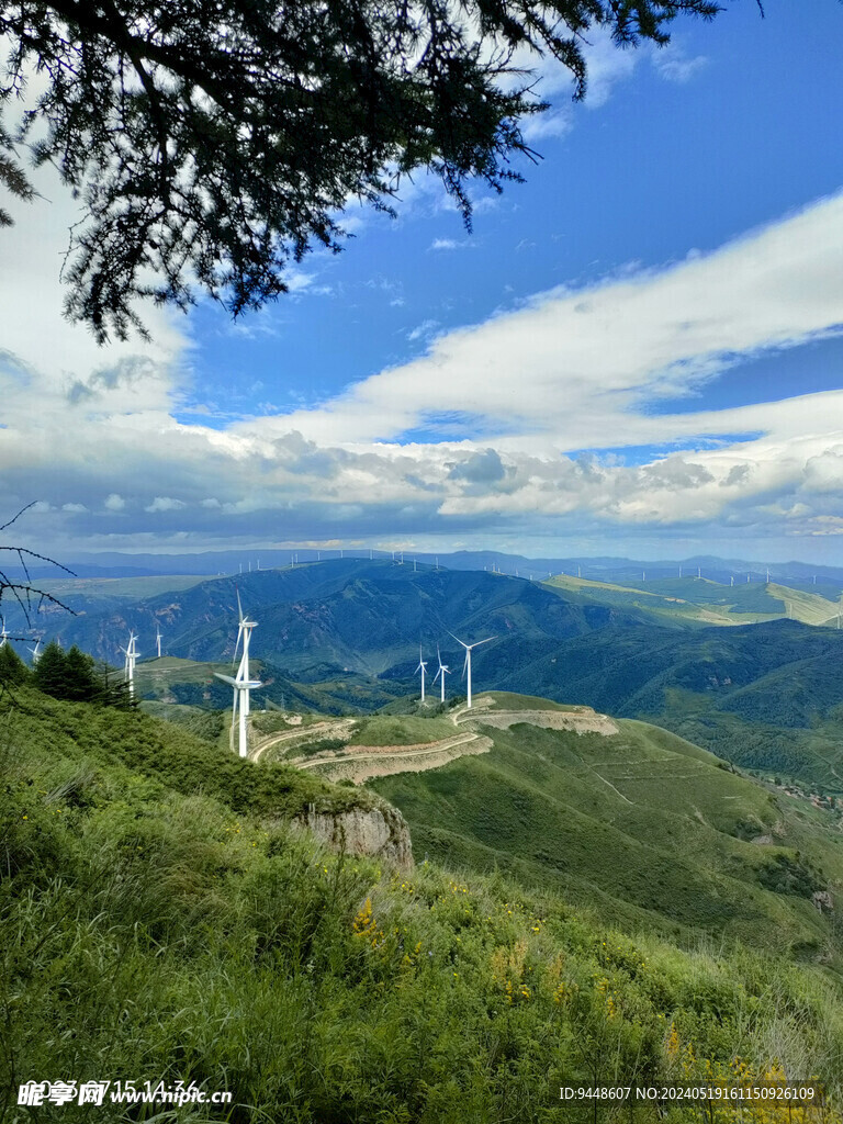
[(139, 326), (134, 298), (185, 308), (194, 281), (236, 316), (285, 292), (287, 270), (312, 245), (341, 248), (351, 199), (391, 212), (401, 181), (429, 171), (468, 225), (472, 180), (497, 191), (519, 180), (513, 155), (536, 160), (519, 121), (546, 108), (525, 58), (555, 58), (582, 98), (589, 33), (661, 45), (678, 16), (720, 10), (0, 0), (0, 105), (36, 72), (40, 88), (19, 129), (0, 121), (0, 183), (27, 198), (18, 152), (29, 143), (80, 199), (66, 310), (100, 341)]

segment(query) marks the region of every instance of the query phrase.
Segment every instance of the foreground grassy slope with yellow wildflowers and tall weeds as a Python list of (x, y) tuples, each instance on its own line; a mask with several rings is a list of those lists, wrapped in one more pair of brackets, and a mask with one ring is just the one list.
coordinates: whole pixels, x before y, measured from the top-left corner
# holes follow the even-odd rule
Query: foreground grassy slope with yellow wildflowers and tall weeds
[(15, 1090), (45, 1078), (192, 1081), (232, 1104), (178, 1120), (234, 1124), (586, 1124), (593, 1105), (560, 1108), (559, 1086), (596, 1076), (816, 1073), (840, 1094), (827, 973), (625, 936), (550, 885), (328, 853), (285, 813), (371, 797), (144, 715), (20, 692), (0, 755), (0, 1120), (29, 1118)]

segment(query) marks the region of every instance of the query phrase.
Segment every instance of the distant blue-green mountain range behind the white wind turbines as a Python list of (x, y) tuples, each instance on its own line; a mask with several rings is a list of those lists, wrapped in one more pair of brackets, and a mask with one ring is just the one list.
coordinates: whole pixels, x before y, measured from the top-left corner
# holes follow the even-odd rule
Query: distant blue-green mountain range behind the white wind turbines
[[(158, 582), (170, 588), (143, 596)], [(42, 619), (63, 643), (118, 665), (129, 629), (147, 660), (160, 629), (167, 656), (218, 664), (234, 654), (238, 590), (260, 622), (252, 653), (263, 697), (278, 705), (359, 711), (410, 696), (419, 645), (434, 668), (438, 645), (459, 694), (454, 636), (495, 636), (474, 652), (478, 687), (645, 718), (744, 768), (843, 792), (843, 631), (796, 619), (837, 623), (831, 590), (813, 582), (799, 591), (694, 574), (636, 588), (337, 559), (237, 579), (80, 582), (63, 590), (78, 616), (53, 609)], [(154, 664), (144, 667), (152, 676)], [(144, 689), (225, 706), (212, 670), (174, 664)]]

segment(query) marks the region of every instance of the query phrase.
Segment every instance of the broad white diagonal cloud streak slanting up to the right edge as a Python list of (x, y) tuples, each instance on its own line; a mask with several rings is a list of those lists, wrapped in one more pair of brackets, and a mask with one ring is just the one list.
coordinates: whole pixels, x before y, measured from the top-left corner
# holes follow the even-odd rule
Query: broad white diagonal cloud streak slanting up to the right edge
[[(841, 332), (843, 194), (708, 255), (640, 270), (441, 335), (428, 353), (355, 384), (318, 410), (248, 425), (319, 442), (396, 437), (445, 415), (465, 436), (547, 451), (745, 432), (749, 419), (652, 416), (737, 359)], [(429, 330), (419, 325), (414, 338)], [(700, 429), (701, 422), (707, 428)], [(435, 423), (432, 423), (435, 428)], [(753, 426), (749, 425), (750, 428)]]

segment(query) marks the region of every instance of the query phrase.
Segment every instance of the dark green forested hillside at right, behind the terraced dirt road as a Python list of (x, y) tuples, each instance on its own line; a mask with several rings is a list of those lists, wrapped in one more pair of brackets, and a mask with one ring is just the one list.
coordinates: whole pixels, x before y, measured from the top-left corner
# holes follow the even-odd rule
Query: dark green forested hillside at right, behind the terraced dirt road
[(843, 796), (841, 631), (787, 619), (602, 628), (509, 665), (498, 678), (508, 690), (646, 718), (742, 767)]

